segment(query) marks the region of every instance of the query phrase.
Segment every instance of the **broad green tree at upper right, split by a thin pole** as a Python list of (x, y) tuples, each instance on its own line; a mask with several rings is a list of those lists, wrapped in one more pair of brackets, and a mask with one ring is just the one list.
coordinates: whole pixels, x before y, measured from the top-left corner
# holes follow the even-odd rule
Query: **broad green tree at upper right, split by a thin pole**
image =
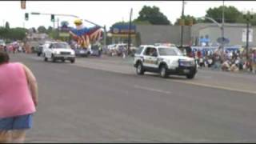
[[(234, 6), (224, 6), (225, 22), (235, 23), (242, 13)], [(206, 10), (206, 17), (214, 18), (216, 22), (222, 22), (222, 6), (214, 7)], [(206, 20), (206, 22), (210, 22)]]

